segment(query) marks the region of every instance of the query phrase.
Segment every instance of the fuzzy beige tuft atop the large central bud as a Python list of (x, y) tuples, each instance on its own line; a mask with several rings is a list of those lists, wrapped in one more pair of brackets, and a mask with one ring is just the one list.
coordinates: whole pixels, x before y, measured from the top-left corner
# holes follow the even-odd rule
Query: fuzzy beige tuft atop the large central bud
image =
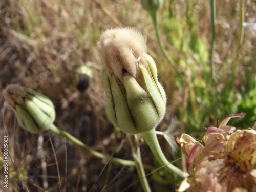
[(98, 42), (102, 65), (108, 76), (112, 73), (123, 81), (123, 71), (134, 78), (138, 62), (146, 64), (146, 38), (132, 28), (115, 28), (104, 31)]

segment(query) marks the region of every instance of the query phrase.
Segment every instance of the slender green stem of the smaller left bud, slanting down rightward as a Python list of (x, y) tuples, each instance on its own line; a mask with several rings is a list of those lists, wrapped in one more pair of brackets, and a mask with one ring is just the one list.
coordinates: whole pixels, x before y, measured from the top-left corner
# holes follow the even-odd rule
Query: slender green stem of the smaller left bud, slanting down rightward
[[(110, 156), (108, 155), (104, 155), (102, 153), (99, 153), (97, 151), (92, 150), (89, 146), (87, 146), (86, 144), (84, 144), (83, 142), (81, 142), (80, 140), (78, 140), (77, 138), (75, 138), (74, 136), (72, 136), (71, 134), (69, 134), (66, 131), (60, 130), (58, 127), (56, 127), (54, 124), (52, 124), (52, 126), (49, 129), (50, 132), (61, 136), (61, 137), (66, 137), (68, 140), (72, 141), (73, 143), (77, 144), (78, 146), (82, 147), (85, 151), (87, 151), (88, 153), (94, 155), (95, 157), (101, 158), (101, 159), (110, 159)], [(119, 158), (115, 158), (112, 157), (111, 158), (112, 162), (116, 162), (116, 163), (120, 163), (122, 165), (129, 165), (129, 166), (135, 166), (136, 163), (134, 161), (129, 161), (129, 160), (124, 160), (124, 159), (119, 159)], [(143, 165), (144, 168), (147, 169), (151, 169), (152, 166), (149, 165)]]

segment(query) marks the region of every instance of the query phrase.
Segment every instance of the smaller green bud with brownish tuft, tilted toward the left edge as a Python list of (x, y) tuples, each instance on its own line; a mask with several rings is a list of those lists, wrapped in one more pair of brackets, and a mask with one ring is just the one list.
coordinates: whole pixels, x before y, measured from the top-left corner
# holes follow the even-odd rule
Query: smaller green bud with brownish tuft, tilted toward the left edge
[(52, 101), (29, 88), (11, 84), (3, 90), (3, 96), (15, 112), (19, 125), (27, 131), (48, 130), (55, 120)]

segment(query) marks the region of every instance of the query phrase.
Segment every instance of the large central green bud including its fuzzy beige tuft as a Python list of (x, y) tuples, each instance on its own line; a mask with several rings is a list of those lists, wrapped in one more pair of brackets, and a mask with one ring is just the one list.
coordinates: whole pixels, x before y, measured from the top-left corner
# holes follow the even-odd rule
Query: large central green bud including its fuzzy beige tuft
[(143, 35), (131, 28), (106, 30), (98, 47), (111, 122), (131, 134), (154, 129), (164, 116), (166, 97)]

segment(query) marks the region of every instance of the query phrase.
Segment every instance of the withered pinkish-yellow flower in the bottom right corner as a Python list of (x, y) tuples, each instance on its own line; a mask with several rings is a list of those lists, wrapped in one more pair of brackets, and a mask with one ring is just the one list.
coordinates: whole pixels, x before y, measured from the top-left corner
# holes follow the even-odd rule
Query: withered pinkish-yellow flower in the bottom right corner
[(229, 116), (218, 128), (209, 127), (203, 137), (205, 146), (182, 134), (180, 147), (188, 157), (190, 177), (178, 191), (256, 191), (256, 130), (227, 125), (231, 118), (241, 116)]

